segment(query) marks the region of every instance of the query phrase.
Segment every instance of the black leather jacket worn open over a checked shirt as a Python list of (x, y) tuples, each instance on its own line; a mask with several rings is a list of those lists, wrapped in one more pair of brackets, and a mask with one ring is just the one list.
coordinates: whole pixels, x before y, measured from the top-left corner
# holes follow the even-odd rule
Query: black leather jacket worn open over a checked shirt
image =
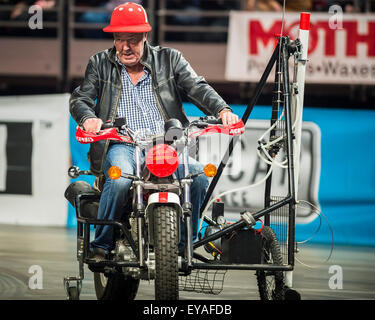
[[(115, 61), (115, 47), (90, 57), (82, 84), (70, 97), (70, 113), (82, 125), (86, 119), (98, 117), (113, 121), (121, 97), (121, 66)], [(145, 42), (141, 63), (150, 71), (157, 107), (164, 120), (177, 118), (186, 126), (189, 121), (182, 100), (190, 101), (207, 115), (218, 116), (229, 108), (203, 77), (197, 76), (181, 52), (153, 47)], [(88, 158), (91, 171), (99, 175), (109, 141), (90, 146)]]

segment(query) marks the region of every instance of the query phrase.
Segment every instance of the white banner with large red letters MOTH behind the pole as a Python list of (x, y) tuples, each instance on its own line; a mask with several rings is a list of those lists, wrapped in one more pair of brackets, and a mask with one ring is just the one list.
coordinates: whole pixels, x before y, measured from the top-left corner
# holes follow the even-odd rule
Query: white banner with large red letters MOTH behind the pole
[[(231, 11), (225, 77), (259, 81), (277, 44), (298, 37), (299, 13)], [(290, 67), (293, 68), (293, 58)], [(312, 13), (306, 82), (375, 84), (375, 15)], [(273, 81), (270, 75), (268, 81)]]

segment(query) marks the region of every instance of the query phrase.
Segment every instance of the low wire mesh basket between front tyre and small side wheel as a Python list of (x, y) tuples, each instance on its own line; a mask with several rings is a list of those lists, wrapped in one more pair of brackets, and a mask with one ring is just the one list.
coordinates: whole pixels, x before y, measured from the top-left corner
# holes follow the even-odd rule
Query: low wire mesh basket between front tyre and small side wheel
[(227, 270), (192, 270), (188, 276), (179, 277), (179, 290), (218, 295), (223, 291)]

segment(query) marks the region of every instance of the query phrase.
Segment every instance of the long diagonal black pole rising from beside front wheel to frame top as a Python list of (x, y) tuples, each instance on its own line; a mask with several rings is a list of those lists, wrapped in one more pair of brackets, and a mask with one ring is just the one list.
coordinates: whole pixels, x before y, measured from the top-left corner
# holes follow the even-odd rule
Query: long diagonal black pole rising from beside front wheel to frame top
[[(271, 70), (273, 68), (273, 65), (275, 64), (277, 58), (278, 58), (278, 55), (279, 55), (279, 44), (276, 46), (275, 50), (273, 51), (273, 54), (266, 66), (266, 69), (264, 70), (264, 73), (262, 75), (262, 77), (260, 78), (260, 81), (258, 82), (256, 88), (255, 88), (255, 93), (250, 101), (250, 103), (248, 104), (246, 110), (245, 110), (245, 113), (243, 114), (242, 116), (242, 122), (244, 124), (246, 124), (249, 116), (250, 116), (250, 113), (253, 111), (253, 108), (255, 106), (255, 104), (257, 103), (258, 101), (258, 98), (262, 92), (262, 89), (267, 81), (267, 78), (269, 76), (269, 74), (271, 73)], [(225, 152), (224, 156), (223, 156), (223, 159), (221, 160), (220, 162), (220, 165), (219, 165), (219, 168), (217, 170), (217, 174), (216, 176), (212, 179), (209, 187), (208, 187), (208, 190), (207, 190), (207, 193), (206, 193), (206, 197), (204, 198), (203, 200), (203, 203), (201, 205), (201, 210), (200, 210), (200, 215), (202, 216), (202, 213), (203, 211), (206, 209), (206, 206), (208, 204), (208, 201), (209, 199), (211, 198), (211, 195), (221, 177), (221, 174), (223, 173), (223, 170), (226, 166), (226, 164), (228, 163), (228, 159), (229, 157), (232, 155), (232, 152), (233, 152), (233, 148), (235, 146), (235, 143), (239, 140), (239, 137), (236, 136), (236, 137), (233, 137), (231, 139), (231, 141), (229, 142), (229, 146), (228, 146), (228, 149), (227, 151)], [(210, 224), (210, 225), (215, 225), (216, 223), (208, 218), (207, 216), (204, 217), (204, 220), (206, 223)]]

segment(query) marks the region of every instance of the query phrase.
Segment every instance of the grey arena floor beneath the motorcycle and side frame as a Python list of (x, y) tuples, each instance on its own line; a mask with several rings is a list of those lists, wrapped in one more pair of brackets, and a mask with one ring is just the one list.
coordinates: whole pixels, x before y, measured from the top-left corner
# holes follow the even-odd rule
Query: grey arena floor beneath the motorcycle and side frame
[[(65, 300), (64, 276), (78, 273), (76, 229), (0, 225), (0, 300)], [(305, 244), (296, 255), (293, 287), (303, 300), (375, 299), (375, 248)], [(30, 288), (35, 267), (39, 285)], [(34, 270), (34, 271), (33, 271)], [(342, 271), (342, 287), (340, 274)], [(228, 271), (219, 295), (181, 292), (181, 299), (258, 300), (254, 271)], [(32, 286), (31, 286), (32, 287)], [(95, 300), (85, 267), (81, 300)], [(136, 299), (154, 299), (153, 282), (142, 281)]]

